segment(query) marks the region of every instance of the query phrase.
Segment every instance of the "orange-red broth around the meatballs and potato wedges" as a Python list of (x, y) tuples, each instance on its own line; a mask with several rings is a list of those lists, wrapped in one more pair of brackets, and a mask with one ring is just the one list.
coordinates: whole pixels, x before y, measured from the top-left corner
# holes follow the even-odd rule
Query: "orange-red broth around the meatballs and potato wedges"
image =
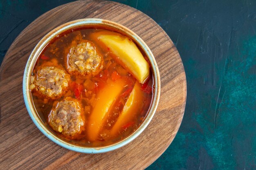
[[(50, 42), (43, 52), (40, 54), (38, 61), (34, 66), (32, 76), (38, 74), (38, 70), (43, 66), (55, 66), (65, 70), (69, 74), (70, 79), (68, 81), (68, 87), (64, 90), (63, 95), (59, 98), (49, 98), (42, 96), (35, 90), (31, 90), (31, 98), (34, 101), (34, 106), (38, 112), (40, 118), (45, 122), (45, 125), (54, 134), (64, 139), (67, 142), (76, 144), (79, 146), (95, 147), (95, 146), (108, 146), (119, 142), (120, 140), (128, 137), (134, 132), (140, 124), (144, 121), (148, 110), (150, 109), (151, 101), (154, 91), (154, 80), (152, 71), (150, 68), (149, 77), (145, 83), (139, 83), (139, 90), (141, 91), (142, 102), (135, 110), (135, 113), (129, 118), (129, 122), (119, 129), (119, 133), (113, 135), (110, 133), (112, 127), (117, 122), (121, 112), (126, 105), (126, 102), (131, 95), (132, 89), (135, 87), (136, 78), (129, 73), (127, 68), (117, 61), (116, 56), (112, 54), (109, 48), (102, 46), (95, 33), (107, 33), (107, 34), (119, 34), (121, 37), (125, 36), (121, 33), (117, 33), (109, 28), (77, 28), (67, 31), (61, 35), (58, 35), (52, 42)], [(67, 57), (70, 52), (70, 48), (79, 44), (79, 42), (90, 41), (97, 49), (97, 52), (103, 58), (102, 67), (95, 75), (75, 75), (67, 72)], [(141, 52), (142, 53), (142, 52)], [(143, 53), (142, 53), (143, 54)], [(144, 54), (143, 54), (144, 55)], [(144, 58), (146, 59), (145, 55)], [(148, 61), (146, 59), (146, 61)], [(149, 62), (148, 62), (149, 63)], [(149, 64), (150, 66), (150, 64)], [(122, 82), (123, 87), (121, 93), (115, 98), (111, 107), (108, 109), (106, 116), (104, 117), (104, 123), (99, 130), (96, 140), (90, 140), (88, 137), (88, 120), (90, 119), (92, 111), (97, 107), (97, 101), (101, 100), (105, 102), (105, 98), (99, 98), (100, 93), (106, 87), (113, 82)], [(65, 91), (65, 92), (64, 92)], [(114, 91), (113, 91), (114, 92)], [(112, 94), (112, 92), (109, 92)], [(49, 126), (49, 115), (52, 110), (58, 105), (58, 102), (65, 98), (72, 98), (79, 102), (83, 112), (81, 113), (81, 119), (84, 121), (79, 133), (75, 135), (63, 135), (57, 131), (54, 131)]]

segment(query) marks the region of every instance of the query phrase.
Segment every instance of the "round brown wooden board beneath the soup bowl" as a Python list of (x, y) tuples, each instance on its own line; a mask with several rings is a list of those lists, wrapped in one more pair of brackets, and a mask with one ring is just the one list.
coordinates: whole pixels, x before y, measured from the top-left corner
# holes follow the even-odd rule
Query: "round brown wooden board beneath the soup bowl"
[[(97, 155), (76, 153), (50, 141), (30, 119), (22, 96), (24, 68), (38, 41), (61, 24), (92, 17), (137, 33), (153, 52), (161, 75), (159, 105), (145, 131), (130, 144)], [(0, 76), (0, 169), (144, 169), (173, 141), (186, 103), (186, 76), (171, 39), (150, 17), (117, 2), (76, 1), (41, 15), (13, 42)]]

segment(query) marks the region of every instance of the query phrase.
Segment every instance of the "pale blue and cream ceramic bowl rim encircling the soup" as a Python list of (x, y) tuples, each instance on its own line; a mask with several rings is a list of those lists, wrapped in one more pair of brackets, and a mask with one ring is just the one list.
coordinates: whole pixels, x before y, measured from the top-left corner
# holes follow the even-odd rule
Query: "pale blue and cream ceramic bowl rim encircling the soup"
[[(152, 68), (152, 74), (154, 78), (154, 84), (155, 84), (155, 89), (154, 89), (154, 94), (153, 94), (153, 100), (152, 104), (150, 106), (150, 109), (148, 111), (148, 114), (144, 121), (141, 123), (139, 128), (134, 131), (132, 134), (130, 134), (128, 137), (125, 139), (111, 144), (109, 146), (102, 146), (102, 147), (84, 147), (84, 146), (77, 146), (74, 144), (71, 144), (69, 142), (66, 142), (65, 140), (59, 138), (56, 136), (52, 131), (50, 131), (44, 124), (44, 122), (41, 120), (39, 114), (37, 113), (34, 103), (30, 97), (30, 89), (29, 89), (29, 82), (30, 82), (30, 75), (31, 72), (34, 68), (34, 65), (40, 55), (40, 52), (47, 46), (47, 44), (52, 41), (57, 35), (60, 35), (61, 33), (72, 29), (72, 28), (77, 28), (81, 26), (103, 26), (103, 27), (108, 27), (112, 28), (120, 33), (123, 33), (124, 35), (128, 36), (131, 38), (137, 46), (144, 52), (146, 57), (148, 58), (148, 61), (150, 62), (151, 68)], [(152, 52), (146, 45), (146, 43), (134, 32), (132, 32), (130, 29), (126, 28), (125, 26), (122, 26), (121, 24), (109, 21), (109, 20), (103, 20), (103, 19), (96, 19), (96, 18), (88, 18), (88, 19), (81, 19), (81, 20), (74, 20), (71, 22), (67, 22), (61, 26), (58, 26), (51, 32), (49, 32), (43, 39), (41, 39), (34, 50), (31, 52), (29, 59), (27, 61), (24, 75), (23, 75), (23, 97), (25, 101), (25, 105), (27, 108), (27, 111), (29, 113), (29, 116), (31, 117), (32, 121), (34, 124), (37, 126), (37, 128), (50, 140), (52, 140), (54, 143), (67, 148), (69, 150), (73, 150), (76, 152), (80, 153), (105, 153), (111, 150), (115, 150), (117, 148), (120, 148), (129, 142), (131, 142), (133, 139), (135, 139), (139, 134), (146, 129), (148, 126), (149, 122), (152, 120), (155, 111), (157, 109), (157, 105), (159, 102), (159, 96), (160, 96), (160, 76), (159, 76), (159, 70), (157, 67), (157, 63), (155, 61), (155, 57), (153, 56)]]

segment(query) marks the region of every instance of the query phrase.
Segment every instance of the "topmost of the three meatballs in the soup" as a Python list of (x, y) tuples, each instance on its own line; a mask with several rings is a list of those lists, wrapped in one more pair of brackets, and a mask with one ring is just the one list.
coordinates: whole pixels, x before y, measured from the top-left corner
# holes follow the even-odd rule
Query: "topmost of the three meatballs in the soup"
[(67, 71), (76, 75), (96, 75), (103, 68), (103, 58), (90, 41), (82, 42), (67, 54)]

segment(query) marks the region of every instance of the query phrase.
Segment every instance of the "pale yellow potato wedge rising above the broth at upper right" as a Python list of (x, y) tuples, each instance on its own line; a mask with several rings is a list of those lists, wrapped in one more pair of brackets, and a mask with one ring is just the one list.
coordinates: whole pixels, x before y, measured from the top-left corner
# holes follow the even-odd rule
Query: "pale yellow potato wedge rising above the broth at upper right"
[(98, 39), (115, 54), (117, 60), (121, 60), (139, 83), (144, 83), (149, 76), (149, 65), (134, 42), (117, 34), (102, 34)]

